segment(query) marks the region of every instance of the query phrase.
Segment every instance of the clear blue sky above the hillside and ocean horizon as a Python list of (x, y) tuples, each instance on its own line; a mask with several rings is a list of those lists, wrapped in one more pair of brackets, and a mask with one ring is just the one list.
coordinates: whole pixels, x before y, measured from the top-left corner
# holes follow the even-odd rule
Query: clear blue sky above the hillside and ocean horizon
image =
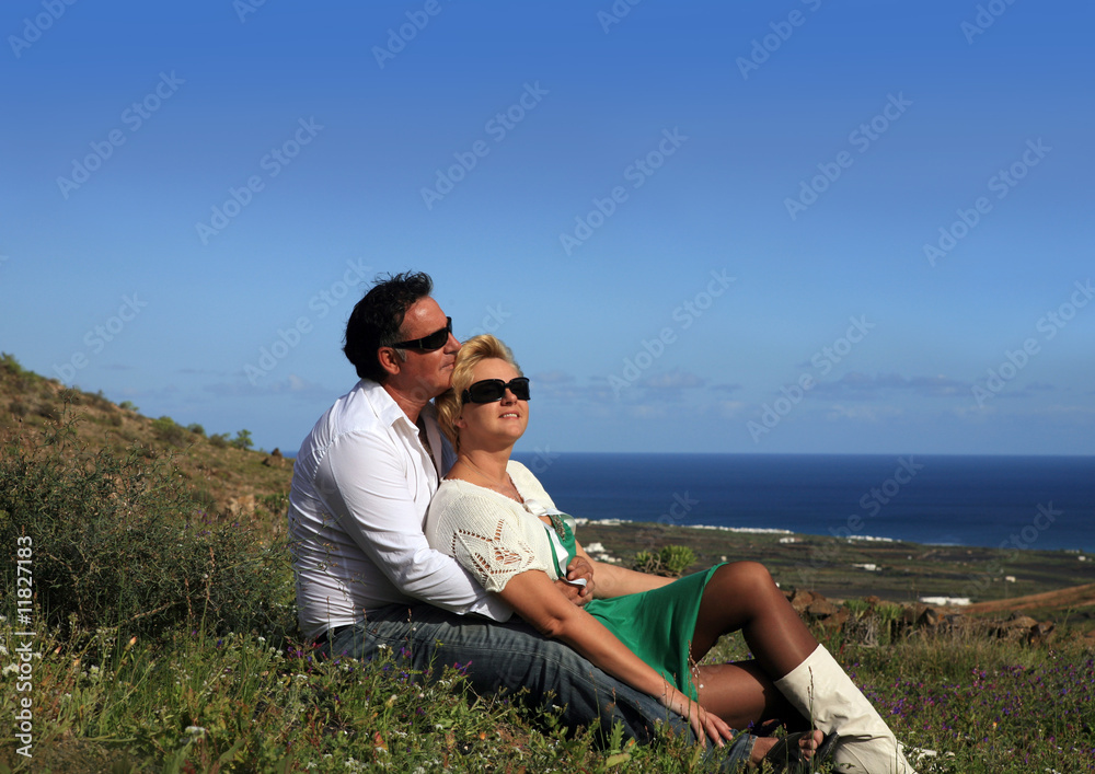
[(1092, 453), (1095, 10), (740, 5), (4, 3), (0, 349), (290, 450), (413, 268), (527, 451)]

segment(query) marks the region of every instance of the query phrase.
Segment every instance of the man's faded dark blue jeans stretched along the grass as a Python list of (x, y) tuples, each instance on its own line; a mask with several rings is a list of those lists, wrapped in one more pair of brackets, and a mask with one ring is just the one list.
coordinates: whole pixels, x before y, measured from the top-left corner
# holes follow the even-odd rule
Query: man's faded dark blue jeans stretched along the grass
[[(391, 605), (370, 613), (362, 624), (339, 631), (321, 652), (370, 660), (382, 648), (435, 678), (445, 667), (458, 663), (476, 693), (505, 691), (538, 709), (563, 707), (561, 719), (570, 730), (598, 721), (607, 736), (620, 723), (629, 737), (643, 743), (653, 740), (659, 727), (695, 741), (684, 718), (520, 620), (499, 624), (428, 604)], [(528, 692), (519, 694), (521, 689)], [(754, 740), (741, 733), (727, 746), (729, 750), (718, 752), (708, 743), (712, 765), (717, 761), (717, 771), (736, 771), (749, 760)]]

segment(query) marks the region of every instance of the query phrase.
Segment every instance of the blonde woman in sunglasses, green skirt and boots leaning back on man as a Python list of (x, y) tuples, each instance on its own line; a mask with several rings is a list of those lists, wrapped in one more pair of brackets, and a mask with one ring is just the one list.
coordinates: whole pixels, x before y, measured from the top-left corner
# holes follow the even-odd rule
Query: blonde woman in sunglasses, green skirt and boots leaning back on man
[[(672, 581), (588, 558), (574, 542), (573, 520), (509, 459), (528, 425), (528, 380), (508, 347), (489, 335), (463, 345), (452, 390), (437, 398), (458, 460), (427, 515), (435, 548), (546, 636), (688, 718), (701, 739), (722, 743), (731, 727), (776, 717), (798, 730), (810, 718), (830, 735), (827, 747), (835, 742), (840, 771), (912, 772), (892, 732), (762, 565), (735, 562)], [(585, 609), (553, 585), (575, 552), (595, 568), (595, 599)], [(738, 629), (754, 660), (699, 665), (719, 636)], [(808, 759), (822, 735), (788, 741), (777, 755)], [(754, 762), (773, 744), (758, 739)]]

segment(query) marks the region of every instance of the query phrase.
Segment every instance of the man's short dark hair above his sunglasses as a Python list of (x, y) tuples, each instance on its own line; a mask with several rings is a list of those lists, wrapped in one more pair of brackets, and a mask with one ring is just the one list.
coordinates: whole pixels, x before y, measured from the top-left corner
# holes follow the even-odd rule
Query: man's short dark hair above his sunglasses
[(429, 296), (434, 280), (425, 272), (377, 278), (346, 322), (343, 351), (361, 379), (383, 383), (388, 372), (380, 367), (377, 353), (402, 340), (403, 316), (414, 303)]

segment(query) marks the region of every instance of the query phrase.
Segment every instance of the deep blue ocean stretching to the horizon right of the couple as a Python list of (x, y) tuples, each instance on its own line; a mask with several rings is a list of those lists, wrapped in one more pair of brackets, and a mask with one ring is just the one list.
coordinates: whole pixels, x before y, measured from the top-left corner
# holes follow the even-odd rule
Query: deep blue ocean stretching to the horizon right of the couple
[(1095, 457), (514, 457), (579, 518), (1095, 553)]

